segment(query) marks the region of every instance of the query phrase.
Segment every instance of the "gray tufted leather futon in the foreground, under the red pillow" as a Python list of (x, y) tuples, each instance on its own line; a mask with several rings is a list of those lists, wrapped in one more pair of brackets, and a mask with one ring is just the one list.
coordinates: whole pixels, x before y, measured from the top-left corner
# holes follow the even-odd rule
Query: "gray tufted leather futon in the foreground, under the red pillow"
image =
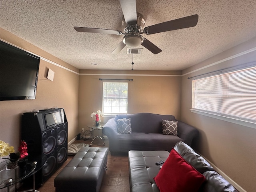
[[(205, 181), (198, 186), (198, 192), (238, 192), (225, 178), (218, 174), (214, 168), (199, 154), (185, 144), (178, 142), (174, 149), (194, 167), (200, 174), (203, 174)], [(160, 171), (160, 165), (155, 163), (159, 160), (166, 160), (168, 151), (135, 151), (128, 152), (130, 191), (131, 192), (160, 192), (154, 178)], [(166, 167), (165, 167), (166, 168)], [(174, 171), (174, 170), (172, 170)], [(177, 170), (179, 172), (179, 170)], [(173, 185), (172, 178), (167, 178), (167, 182)], [(184, 186), (184, 177), (180, 179), (180, 185)], [(190, 191), (190, 190), (189, 190)]]

